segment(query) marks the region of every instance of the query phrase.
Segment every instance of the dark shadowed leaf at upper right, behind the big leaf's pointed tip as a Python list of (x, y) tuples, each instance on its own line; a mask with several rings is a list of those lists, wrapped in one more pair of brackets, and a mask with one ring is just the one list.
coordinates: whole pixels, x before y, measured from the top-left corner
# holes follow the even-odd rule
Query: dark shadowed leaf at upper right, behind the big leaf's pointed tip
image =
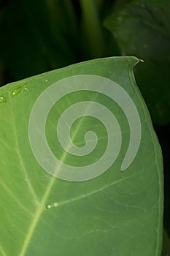
[(136, 68), (136, 79), (155, 124), (170, 121), (169, 13), (169, 1), (135, 0), (105, 20), (121, 54), (145, 62)]

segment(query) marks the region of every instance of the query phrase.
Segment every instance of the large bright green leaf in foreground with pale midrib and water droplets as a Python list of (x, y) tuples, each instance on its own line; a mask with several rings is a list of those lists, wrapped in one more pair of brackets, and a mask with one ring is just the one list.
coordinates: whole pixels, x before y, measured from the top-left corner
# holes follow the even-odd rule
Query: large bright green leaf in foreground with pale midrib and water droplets
[[(135, 57), (96, 59), (1, 88), (1, 255), (161, 255), (161, 148), (134, 80), (138, 62)], [(80, 107), (74, 111), (74, 106)], [(72, 110), (68, 120), (67, 110)], [(82, 154), (85, 146), (96, 147), (73, 155), (59, 144), (59, 132), (69, 151), (67, 122), (79, 112), (70, 127), (74, 148)], [(49, 148), (60, 165), (48, 159)], [(66, 178), (56, 178), (63, 166), (88, 171), (98, 161), (101, 165), (90, 172), (95, 177), (82, 173), (84, 181), (78, 180), (81, 175), (68, 181), (70, 169)]]

